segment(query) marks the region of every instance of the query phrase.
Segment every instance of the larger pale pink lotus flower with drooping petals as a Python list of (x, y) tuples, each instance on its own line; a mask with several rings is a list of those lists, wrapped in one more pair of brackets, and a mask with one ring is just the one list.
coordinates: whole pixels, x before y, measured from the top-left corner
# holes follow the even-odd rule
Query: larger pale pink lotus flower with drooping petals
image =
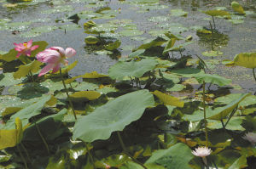
[(68, 65), (67, 58), (71, 58), (76, 54), (73, 48), (51, 47), (45, 49), (43, 52), (37, 54), (37, 59), (40, 62), (46, 63), (47, 65), (40, 71), (38, 76), (43, 76), (52, 70), (52, 73), (58, 71), (63, 65)]

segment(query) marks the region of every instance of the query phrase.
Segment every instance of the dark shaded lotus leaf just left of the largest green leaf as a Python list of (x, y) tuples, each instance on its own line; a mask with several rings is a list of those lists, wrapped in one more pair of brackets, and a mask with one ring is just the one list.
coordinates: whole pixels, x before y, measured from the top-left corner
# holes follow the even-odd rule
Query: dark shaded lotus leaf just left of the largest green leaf
[[(63, 109), (57, 114), (45, 116), (44, 118), (37, 121), (37, 125), (40, 128), (40, 132), (42, 132), (46, 140), (53, 141), (55, 138), (60, 136), (61, 133), (65, 131), (66, 128), (62, 127), (61, 123), (66, 113), (67, 109)], [(42, 138), (38, 136), (38, 130), (35, 126), (35, 123), (26, 128), (23, 140), (42, 141)]]

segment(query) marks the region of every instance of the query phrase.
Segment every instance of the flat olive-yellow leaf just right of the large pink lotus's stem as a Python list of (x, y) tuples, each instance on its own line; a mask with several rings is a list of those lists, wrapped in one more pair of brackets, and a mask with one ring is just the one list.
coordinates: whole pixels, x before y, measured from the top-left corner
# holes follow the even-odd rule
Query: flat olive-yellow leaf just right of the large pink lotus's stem
[(98, 99), (100, 96), (101, 96), (101, 93), (98, 93), (95, 91), (81, 91), (81, 92), (76, 92), (70, 95), (72, 99), (89, 99), (89, 100)]

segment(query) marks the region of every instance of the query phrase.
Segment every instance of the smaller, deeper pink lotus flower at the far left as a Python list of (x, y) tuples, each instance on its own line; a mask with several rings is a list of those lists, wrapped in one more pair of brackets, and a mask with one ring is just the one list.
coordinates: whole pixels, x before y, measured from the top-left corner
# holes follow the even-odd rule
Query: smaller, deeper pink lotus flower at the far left
[(16, 46), (15, 50), (18, 51), (16, 58), (19, 58), (21, 54), (30, 56), (31, 52), (39, 47), (38, 45), (32, 46), (32, 39), (28, 42), (20, 42), (19, 44), (14, 43), (14, 45)]

